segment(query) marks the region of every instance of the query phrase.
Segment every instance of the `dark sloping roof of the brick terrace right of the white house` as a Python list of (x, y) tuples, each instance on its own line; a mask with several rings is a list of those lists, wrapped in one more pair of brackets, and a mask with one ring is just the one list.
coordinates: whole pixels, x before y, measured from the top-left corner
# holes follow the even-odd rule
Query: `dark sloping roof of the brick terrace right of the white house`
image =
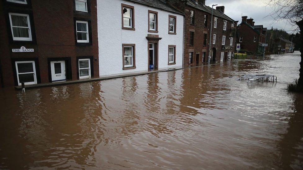
[[(199, 10), (202, 10), (202, 11), (205, 11), (205, 12), (211, 14), (211, 10), (212, 10), (211, 7), (208, 7), (206, 5), (202, 5), (201, 3), (196, 3), (194, 0), (188, 0), (187, 5), (190, 6), (190, 7), (197, 8)], [(235, 20), (233, 20), (233, 19), (229, 18), (227, 15), (225, 15), (223, 12), (221, 12), (219, 10), (216, 10), (216, 9), (214, 9), (213, 15), (215, 15), (217, 17), (220, 17), (220, 18), (223, 18), (225, 20), (236, 22)]]

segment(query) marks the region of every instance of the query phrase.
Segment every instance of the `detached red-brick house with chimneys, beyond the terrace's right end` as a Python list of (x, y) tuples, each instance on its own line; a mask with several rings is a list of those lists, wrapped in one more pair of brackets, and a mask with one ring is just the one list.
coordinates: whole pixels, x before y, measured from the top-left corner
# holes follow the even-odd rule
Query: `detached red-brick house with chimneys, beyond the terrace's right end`
[(242, 22), (237, 26), (237, 43), (242, 50), (265, 52), (267, 28), (255, 25), (254, 19), (242, 16)]

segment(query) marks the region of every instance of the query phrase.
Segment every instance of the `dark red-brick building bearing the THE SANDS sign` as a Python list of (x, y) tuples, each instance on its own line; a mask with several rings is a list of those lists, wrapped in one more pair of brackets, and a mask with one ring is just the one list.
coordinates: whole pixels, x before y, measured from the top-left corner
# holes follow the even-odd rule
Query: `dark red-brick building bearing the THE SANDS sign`
[(1, 0), (0, 87), (98, 77), (96, 0)]

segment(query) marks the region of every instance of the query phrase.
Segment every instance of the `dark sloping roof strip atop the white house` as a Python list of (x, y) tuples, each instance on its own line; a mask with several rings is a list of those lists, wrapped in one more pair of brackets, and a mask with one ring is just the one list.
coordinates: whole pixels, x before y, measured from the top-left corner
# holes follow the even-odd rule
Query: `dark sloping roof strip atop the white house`
[(165, 11), (170, 11), (170, 12), (184, 15), (181, 11), (177, 10), (176, 8), (170, 6), (167, 3), (162, 2), (161, 0), (128, 0), (128, 1), (136, 2), (136, 3), (146, 5), (149, 7), (160, 8)]

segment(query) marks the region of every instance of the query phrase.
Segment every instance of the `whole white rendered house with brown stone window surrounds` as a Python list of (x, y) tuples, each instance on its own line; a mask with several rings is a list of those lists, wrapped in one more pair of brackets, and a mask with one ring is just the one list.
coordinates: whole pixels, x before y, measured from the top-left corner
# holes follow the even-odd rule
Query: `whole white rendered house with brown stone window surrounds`
[(183, 20), (161, 0), (97, 0), (100, 77), (182, 68)]

